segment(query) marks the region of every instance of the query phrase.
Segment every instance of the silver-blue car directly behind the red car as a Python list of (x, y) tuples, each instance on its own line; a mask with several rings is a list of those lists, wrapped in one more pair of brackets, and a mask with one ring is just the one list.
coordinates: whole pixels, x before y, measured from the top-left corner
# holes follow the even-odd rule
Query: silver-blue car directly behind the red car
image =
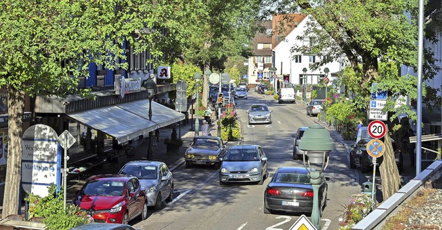
[(162, 202), (173, 200), (173, 174), (164, 162), (134, 160), (124, 164), (118, 174), (133, 175), (146, 189), (148, 207), (158, 210)]

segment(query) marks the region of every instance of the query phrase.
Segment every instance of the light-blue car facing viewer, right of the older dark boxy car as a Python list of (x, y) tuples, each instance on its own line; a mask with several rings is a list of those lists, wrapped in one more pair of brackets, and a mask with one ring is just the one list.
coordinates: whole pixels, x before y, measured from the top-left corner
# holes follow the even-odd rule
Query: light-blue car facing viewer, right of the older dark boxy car
[(262, 147), (254, 144), (231, 146), (222, 157), (220, 184), (231, 182), (258, 182), (263, 184), (269, 177), (267, 156)]

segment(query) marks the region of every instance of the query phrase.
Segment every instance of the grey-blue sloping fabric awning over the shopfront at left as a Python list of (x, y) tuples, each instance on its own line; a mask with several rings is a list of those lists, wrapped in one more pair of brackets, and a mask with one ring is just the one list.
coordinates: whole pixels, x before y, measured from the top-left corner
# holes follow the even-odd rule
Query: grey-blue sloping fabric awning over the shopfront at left
[(152, 121), (149, 121), (148, 108), (148, 100), (140, 100), (67, 115), (80, 124), (115, 137), (119, 144), (185, 118), (182, 113), (152, 102)]

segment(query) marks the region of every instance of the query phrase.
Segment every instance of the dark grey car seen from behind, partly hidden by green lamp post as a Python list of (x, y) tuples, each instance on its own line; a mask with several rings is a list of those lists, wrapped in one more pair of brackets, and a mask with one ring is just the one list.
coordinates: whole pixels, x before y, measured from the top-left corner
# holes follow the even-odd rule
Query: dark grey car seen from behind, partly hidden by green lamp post
[[(287, 211), (311, 213), (313, 187), (305, 167), (280, 167), (264, 192), (264, 213)], [(319, 186), (318, 204), (322, 213), (327, 205), (327, 182)]]

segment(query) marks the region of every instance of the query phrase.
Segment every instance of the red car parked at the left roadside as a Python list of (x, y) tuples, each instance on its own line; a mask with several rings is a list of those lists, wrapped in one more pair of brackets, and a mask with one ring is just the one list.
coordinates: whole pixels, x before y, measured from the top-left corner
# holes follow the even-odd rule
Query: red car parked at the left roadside
[(95, 175), (75, 195), (73, 204), (90, 215), (94, 222), (128, 224), (147, 218), (144, 188), (132, 175)]

